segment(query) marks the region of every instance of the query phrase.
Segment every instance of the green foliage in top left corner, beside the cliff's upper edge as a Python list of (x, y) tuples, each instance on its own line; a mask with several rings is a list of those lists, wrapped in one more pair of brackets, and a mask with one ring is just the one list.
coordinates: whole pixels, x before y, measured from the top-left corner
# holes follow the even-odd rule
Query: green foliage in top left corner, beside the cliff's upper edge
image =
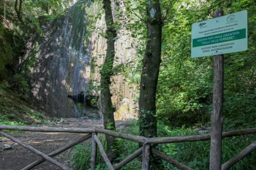
[[(22, 20), (17, 20), (15, 1), (0, 1), (0, 15), (4, 16), (0, 19), (0, 80), (12, 77), (12, 71), (17, 64), (15, 62), (24, 55), (28, 40), (35, 33), (43, 35), (42, 26), (47, 25), (58, 15), (64, 14), (70, 3), (71, 0), (24, 0), (21, 10)], [(35, 57), (29, 58), (29, 62), (35, 59)], [(33, 69), (32, 63), (29, 66), (28, 63), (25, 65), (30, 71)]]

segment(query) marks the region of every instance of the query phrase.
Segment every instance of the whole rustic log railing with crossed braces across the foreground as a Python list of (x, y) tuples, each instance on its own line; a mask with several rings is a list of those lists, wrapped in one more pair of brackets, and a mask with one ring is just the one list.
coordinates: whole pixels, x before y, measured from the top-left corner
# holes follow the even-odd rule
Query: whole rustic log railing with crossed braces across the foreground
[[(49, 153), (47, 155), (45, 153), (40, 152), (39, 150), (36, 150), (34, 147), (32, 147), (28, 144), (25, 144), (24, 142), (20, 141), (19, 139), (3, 132), (2, 130), (22, 130), (22, 131), (33, 131), (33, 132), (61, 132), (61, 133), (89, 133), (89, 134), (87, 134), (86, 136), (83, 136), (82, 138), (76, 140), (75, 142), (67, 144), (66, 146), (61, 147), (58, 150), (55, 150), (54, 152)], [(130, 156), (128, 156), (121, 162), (112, 165), (104, 151), (104, 148), (97, 136), (97, 133), (103, 133), (103, 134), (106, 134), (109, 136), (114, 136), (114, 137), (127, 139), (127, 140), (134, 141), (134, 142), (143, 143), (143, 147), (136, 150), (134, 153), (132, 153)], [(241, 135), (250, 134), (250, 133), (256, 133), (256, 128), (224, 132), (224, 133), (222, 133), (222, 138), (227, 138), (227, 137), (232, 137), (232, 136), (241, 136)], [(91, 170), (94, 170), (96, 167), (96, 157), (97, 157), (97, 148), (98, 147), (99, 147), (99, 152), (102, 155), (102, 158), (104, 159), (105, 163), (107, 164), (107, 166), (110, 170), (119, 170), (122, 166), (128, 164), (130, 161), (137, 158), (137, 156), (140, 156), (140, 154), (142, 154), (142, 170), (149, 170), (150, 154), (159, 156), (161, 159), (169, 162), (174, 167), (177, 167), (181, 170), (192, 170), (192, 168), (178, 162), (175, 159), (170, 158), (169, 156), (165, 155), (164, 153), (160, 152), (159, 150), (155, 149), (154, 147), (151, 147), (151, 144), (206, 141), (206, 140), (210, 140), (210, 138), (211, 138), (210, 134), (194, 135), (194, 136), (146, 138), (143, 136), (118, 133), (118, 132), (113, 132), (111, 130), (105, 130), (105, 129), (63, 128), (63, 127), (61, 127), (61, 128), (59, 128), (59, 127), (26, 127), (26, 126), (8, 126), (8, 125), (0, 125), (0, 134), (3, 136), (6, 136), (7, 138), (11, 139), (12, 141), (16, 142), (17, 144), (20, 144), (21, 146), (30, 150), (32, 153), (35, 153), (38, 156), (41, 156), (42, 159), (38, 159), (37, 161), (32, 162), (31, 164), (24, 167), (22, 170), (30, 170), (33, 167), (37, 166), (38, 164), (41, 164), (44, 161), (49, 161), (52, 164), (55, 164), (56, 166), (60, 167), (63, 170), (72, 170), (70, 167), (67, 167), (64, 164), (61, 164), (60, 162), (56, 161), (55, 159), (52, 159), (52, 157), (64, 152), (65, 150), (75, 146), (76, 144), (79, 144), (79, 143), (81, 143), (87, 139), (90, 139), (90, 138), (92, 138), (92, 150), (91, 150), (91, 159), (90, 159)], [(229, 169), (234, 164), (236, 164), (238, 161), (240, 161), (245, 156), (247, 156), (249, 153), (253, 152), (253, 150), (256, 150), (256, 142), (253, 142), (248, 147), (246, 147), (244, 150), (242, 150), (240, 153), (238, 153), (236, 156), (234, 156), (232, 159), (230, 159), (229, 161), (224, 163), (221, 166), (221, 170)]]

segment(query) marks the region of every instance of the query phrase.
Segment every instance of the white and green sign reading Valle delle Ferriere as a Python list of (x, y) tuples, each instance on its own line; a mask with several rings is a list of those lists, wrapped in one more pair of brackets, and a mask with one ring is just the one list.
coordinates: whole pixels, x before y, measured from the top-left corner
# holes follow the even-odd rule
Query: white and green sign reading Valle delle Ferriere
[(191, 57), (247, 50), (247, 11), (192, 25)]

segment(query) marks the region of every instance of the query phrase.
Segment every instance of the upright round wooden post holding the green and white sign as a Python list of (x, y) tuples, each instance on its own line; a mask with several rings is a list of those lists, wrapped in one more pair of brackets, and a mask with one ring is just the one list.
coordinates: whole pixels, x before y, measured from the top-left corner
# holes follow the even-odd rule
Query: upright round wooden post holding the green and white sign
[[(223, 16), (222, 10), (215, 10), (214, 17)], [(216, 51), (217, 52), (217, 51)], [(211, 114), (210, 170), (221, 170), (221, 141), (223, 125), (224, 55), (214, 56), (214, 85)]]

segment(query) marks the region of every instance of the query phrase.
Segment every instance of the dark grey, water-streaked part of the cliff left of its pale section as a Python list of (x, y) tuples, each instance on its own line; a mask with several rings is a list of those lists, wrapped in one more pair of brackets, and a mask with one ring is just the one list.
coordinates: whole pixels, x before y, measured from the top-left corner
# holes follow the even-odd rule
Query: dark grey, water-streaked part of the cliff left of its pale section
[(90, 81), (87, 49), (83, 45), (88, 8), (93, 8), (90, 0), (80, 0), (45, 28), (44, 36), (34, 35), (20, 63), (21, 71), (31, 78), (35, 100), (49, 116), (77, 116), (78, 109), (67, 96), (85, 91)]

